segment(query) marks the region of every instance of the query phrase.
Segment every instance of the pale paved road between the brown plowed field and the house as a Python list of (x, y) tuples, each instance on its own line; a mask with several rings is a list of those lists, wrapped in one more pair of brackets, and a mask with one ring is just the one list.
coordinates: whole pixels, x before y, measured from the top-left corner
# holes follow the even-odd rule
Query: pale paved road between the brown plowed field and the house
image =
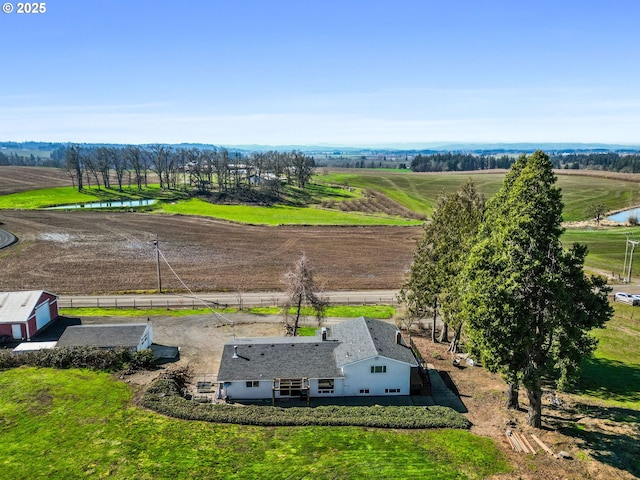
[[(339, 305), (393, 305), (397, 303), (396, 290), (364, 290), (348, 292), (324, 292), (329, 303)], [(282, 292), (202, 293), (193, 295), (83, 295), (61, 296), (61, 308), (80, 307), (193, 307), (206, 305), (273, 306), (284, 303)]]

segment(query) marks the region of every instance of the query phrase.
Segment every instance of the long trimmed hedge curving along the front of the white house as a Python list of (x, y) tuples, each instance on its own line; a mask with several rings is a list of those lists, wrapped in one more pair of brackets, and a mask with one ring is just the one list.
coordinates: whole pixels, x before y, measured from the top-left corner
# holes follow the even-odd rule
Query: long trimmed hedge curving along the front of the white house
[(470, 428), (471, 423), (448, 407), (319, 406), (271, 407), (201, 404), (187, 400), (171, 379), (157, 380), (142, 405), (183, 420), (261, 426), (361, 426), (377, 428)]

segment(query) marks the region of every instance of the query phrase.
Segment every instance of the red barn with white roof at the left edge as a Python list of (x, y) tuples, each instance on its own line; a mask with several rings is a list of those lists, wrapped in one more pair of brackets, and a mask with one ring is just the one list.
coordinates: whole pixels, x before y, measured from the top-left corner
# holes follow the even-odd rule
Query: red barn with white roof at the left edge
[(31, 340), (58, 318), (58, 296), (45, 290), (0, 292), (0, 337)]

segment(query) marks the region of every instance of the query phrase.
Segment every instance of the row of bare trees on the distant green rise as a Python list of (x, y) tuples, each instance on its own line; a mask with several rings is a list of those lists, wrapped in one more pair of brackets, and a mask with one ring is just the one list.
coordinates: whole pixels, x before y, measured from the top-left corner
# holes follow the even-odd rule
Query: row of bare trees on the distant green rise
[(123, 183), (138, 190), (147, 186), (152, 172), (161, 189), (195, 190), (206, 194), (235, 192), (260, 185), (280, 193), (283, 181), (304, 188), (315, 170), (315, 162), (301, 152), (258, 152), (241, 155), (225, 148), (174, 148), (168, 145), (126, 147), (82, 147), (71, 145), (65, 152), (65, 170), (78, 190), (96, 185), (117, 188)]

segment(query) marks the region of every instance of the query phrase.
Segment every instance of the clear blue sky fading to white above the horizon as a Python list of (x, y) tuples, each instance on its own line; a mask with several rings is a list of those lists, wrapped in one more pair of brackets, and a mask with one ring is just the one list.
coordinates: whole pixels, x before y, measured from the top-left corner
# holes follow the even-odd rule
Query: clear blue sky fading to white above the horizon
[(0, 140), (638, 145), (639, 18), (637, 0), (51, 0), (0, 13)]

